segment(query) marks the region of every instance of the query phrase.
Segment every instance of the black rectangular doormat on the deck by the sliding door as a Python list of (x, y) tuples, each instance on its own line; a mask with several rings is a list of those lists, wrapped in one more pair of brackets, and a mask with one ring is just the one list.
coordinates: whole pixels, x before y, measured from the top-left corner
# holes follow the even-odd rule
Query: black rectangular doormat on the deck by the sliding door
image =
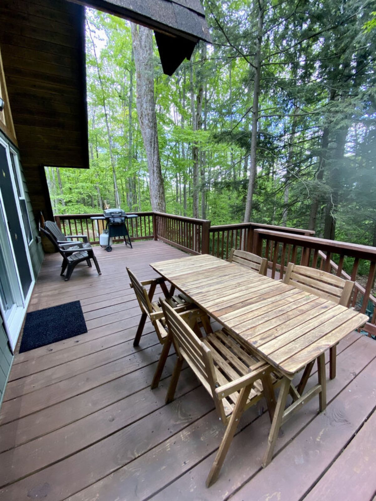
[(79, 301), (28, 313), (20, 353), (87, 332)]

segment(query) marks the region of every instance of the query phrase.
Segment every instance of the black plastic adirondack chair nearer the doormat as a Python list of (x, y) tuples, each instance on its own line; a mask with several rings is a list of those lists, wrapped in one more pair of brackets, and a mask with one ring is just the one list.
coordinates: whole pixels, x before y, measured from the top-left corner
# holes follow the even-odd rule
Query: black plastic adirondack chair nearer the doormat
[[(75, 243), (75, 249), (72, 249), (72, 242), (64, 242), (58, 243), (55, 238), (51, 235), (51, 233), (43, 228), (41, 231), (47, 236), (47, 238), (54, 244), (56, 250), (63, 257), (63, 264), (61, 266), (61, 276), (64, 275), (65, 270), (67, 273), (65, 275), (65, 281), (67, 282), (73, 273), (76, 265), (86, 261), (88, 267), (91, 268), (91, 259), (94, 261), (95, 268), (97, 269), (98, 275), (102, 275), (98, 261), (94, 256), (94, 251), (92, 247), (89, 245), (88, 247), (84, 247), (85, 243), (77, 242)], [(70, 245), (70, 246), (69, 246)], [(77, 249), (76, 249), (77, 247)]]

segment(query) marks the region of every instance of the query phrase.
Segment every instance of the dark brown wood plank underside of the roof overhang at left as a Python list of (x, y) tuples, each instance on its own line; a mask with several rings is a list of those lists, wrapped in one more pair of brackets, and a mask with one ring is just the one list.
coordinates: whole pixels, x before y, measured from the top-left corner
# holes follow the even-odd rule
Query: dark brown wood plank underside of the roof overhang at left
[(2, 0), (0, 46), (36, 217), (52, 217), (44, 166), (89, 167), (85, 13), (65, 0)]

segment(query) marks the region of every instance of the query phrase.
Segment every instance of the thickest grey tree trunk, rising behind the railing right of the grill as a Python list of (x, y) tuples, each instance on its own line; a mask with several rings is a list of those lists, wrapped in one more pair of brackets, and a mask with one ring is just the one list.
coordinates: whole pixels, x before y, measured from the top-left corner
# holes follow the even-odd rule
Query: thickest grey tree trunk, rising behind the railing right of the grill
[(165, 212), (155, 114), (152, 32), (148, 28), (133, 23), (131, 23), (131, 31), (136, 67), (137, 115), (146, 150), (151, 208), (158, 212)]

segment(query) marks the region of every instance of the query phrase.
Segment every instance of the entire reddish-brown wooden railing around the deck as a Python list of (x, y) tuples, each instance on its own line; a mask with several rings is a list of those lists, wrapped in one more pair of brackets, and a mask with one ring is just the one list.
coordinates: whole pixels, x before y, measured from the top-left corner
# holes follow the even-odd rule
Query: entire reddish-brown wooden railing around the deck
[[(138, 217), (127, 220), (131, 240), (154, 238), (190, 254), (212, 254), (222, 259), (228, 258), (233, 247), (248, 250), (268, 258), (268, 274), (276, 279), (283, 277), (289, 262), (351, 279), (355, 281), (351, 305), (364, 313), (370, 302), (371, 322), (376, 323), (376, 298), (371, 295), (376, 272), (376, 247), (316, 238), (314, 231), (300, 228), (254, 222), (211, 226), (206, 219), (162, 212), (134, 213)], [(90, 217), (100, 215), (60, 214), (55, 220), (64, 234), (84, 234), (91, 243), (97, 244), (105, 221), (93, 221)], [(366, 262), (369, 270), (365, 287), (356, 282), (361, 260)]]

